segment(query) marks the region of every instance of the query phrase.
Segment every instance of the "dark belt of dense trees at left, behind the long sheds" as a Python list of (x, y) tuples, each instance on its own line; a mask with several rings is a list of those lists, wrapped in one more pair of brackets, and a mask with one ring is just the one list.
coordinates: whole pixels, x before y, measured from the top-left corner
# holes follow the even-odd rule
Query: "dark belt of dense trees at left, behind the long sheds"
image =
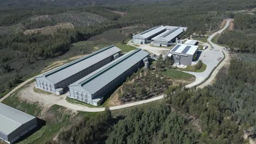
[(54, 57), (68, 51), (69, 46), (74, 42), (86, 40), (108, 29), (120, 27), (119, 23), (109, 22), (84, 28), (59, 29), (53, 35), (40, 33), (0, 35), (0, 49), (19, 50), (22, 52), (21, 57), (33, 57), (36, 59)]

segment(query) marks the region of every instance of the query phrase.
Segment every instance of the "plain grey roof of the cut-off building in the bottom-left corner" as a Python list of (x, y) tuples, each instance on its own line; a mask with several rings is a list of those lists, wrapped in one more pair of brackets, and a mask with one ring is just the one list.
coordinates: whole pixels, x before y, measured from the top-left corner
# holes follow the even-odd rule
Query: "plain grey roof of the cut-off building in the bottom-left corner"
[(34, 118), (36, 117), (0, 103), (0, 131), (6, 135)]

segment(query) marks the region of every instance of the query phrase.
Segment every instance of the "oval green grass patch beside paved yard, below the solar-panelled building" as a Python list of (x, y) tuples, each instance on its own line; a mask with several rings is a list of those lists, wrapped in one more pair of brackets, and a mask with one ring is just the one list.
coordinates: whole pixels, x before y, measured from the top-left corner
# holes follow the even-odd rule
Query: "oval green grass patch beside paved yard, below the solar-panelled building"
[(178, 80), (195, 79), (194, 75), (184, 73), (183, 71), (179, 71), (179, 70), (175, 70), (175, 69), (167, 69), (166, 71), (162, 71), (162, 75), (164, 75), (170, 79), (178, 79)]

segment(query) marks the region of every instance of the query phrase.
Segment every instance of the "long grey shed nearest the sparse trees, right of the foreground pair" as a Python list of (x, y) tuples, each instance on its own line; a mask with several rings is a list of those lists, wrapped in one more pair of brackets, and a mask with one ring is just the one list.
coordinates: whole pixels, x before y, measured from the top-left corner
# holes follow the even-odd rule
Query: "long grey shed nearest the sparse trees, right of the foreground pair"
[(133, 50), (69, 85), (69, 98), (100, 105), (104, 96), (147, 62), (149, 53)]

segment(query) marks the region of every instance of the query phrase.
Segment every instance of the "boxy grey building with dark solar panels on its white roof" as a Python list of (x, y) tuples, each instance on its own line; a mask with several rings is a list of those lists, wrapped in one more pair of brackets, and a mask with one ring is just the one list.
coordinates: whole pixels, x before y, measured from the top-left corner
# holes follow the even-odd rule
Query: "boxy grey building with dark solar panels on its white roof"
[(174, 64), (191, 65), (197, 57), (198, 46), (177, 44), (167, 54), (174, 60)]

